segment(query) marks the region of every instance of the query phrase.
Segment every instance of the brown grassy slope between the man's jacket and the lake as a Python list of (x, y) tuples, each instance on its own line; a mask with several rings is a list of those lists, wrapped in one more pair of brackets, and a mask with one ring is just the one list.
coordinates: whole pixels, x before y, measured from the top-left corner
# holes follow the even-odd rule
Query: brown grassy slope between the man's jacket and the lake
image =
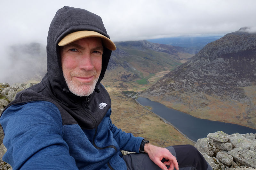
[(111, 120), (118, 128), (134, 136), (144, 137), (150, 143), (161, 147), (178, 144), (194, 145), (157, 115), (131, 97), (118, 92), (117, 88), (107, 87), (107, 90), (112, 101)]

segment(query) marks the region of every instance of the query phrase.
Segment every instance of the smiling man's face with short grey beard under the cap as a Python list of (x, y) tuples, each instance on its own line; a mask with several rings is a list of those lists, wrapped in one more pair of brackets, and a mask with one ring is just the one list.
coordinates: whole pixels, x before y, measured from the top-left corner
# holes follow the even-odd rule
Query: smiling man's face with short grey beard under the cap
[(101, 72), (103, 46), (99, 37), (77, 40), (60, 48), (61, 66), (69, 90), (89, 96)]

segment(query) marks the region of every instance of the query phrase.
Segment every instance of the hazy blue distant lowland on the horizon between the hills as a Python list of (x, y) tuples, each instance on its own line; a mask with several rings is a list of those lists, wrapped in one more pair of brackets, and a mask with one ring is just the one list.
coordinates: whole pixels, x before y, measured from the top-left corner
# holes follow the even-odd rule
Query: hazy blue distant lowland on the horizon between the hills
[(148, 41), (158, 44), (168, 44), (172, 46), (179, 46), (185, 48), (188, 53), (196, 54), (204, 46), (212, 41), (218, 40), (221, 36), (207, 36), (207, 37), (170, 37), (150, 39)]

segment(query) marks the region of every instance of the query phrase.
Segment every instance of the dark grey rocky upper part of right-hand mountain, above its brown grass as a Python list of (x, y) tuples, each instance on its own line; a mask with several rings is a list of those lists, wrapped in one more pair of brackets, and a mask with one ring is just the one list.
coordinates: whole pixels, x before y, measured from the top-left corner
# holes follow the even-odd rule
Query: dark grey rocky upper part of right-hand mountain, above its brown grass
[(157, 95), (161, 91), (182, 89), (245, 100), (244, 92), (238, 87), (252, 85), (255, 81), (256, 33), (236, 31), (206, 45), (147, 92)]

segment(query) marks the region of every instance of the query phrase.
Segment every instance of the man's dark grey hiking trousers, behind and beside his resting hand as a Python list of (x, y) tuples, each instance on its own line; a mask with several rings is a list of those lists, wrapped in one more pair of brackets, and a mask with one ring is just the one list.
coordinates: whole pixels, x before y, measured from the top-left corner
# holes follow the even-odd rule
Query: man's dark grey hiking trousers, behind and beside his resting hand
[[(180, 170), (212, 170), (203, 155), (192, 145), (175, 145), (167, 149), (176, 157)], [(146, 153), (127, 154), (123, 158), (127, 170), (161, 170)]]

